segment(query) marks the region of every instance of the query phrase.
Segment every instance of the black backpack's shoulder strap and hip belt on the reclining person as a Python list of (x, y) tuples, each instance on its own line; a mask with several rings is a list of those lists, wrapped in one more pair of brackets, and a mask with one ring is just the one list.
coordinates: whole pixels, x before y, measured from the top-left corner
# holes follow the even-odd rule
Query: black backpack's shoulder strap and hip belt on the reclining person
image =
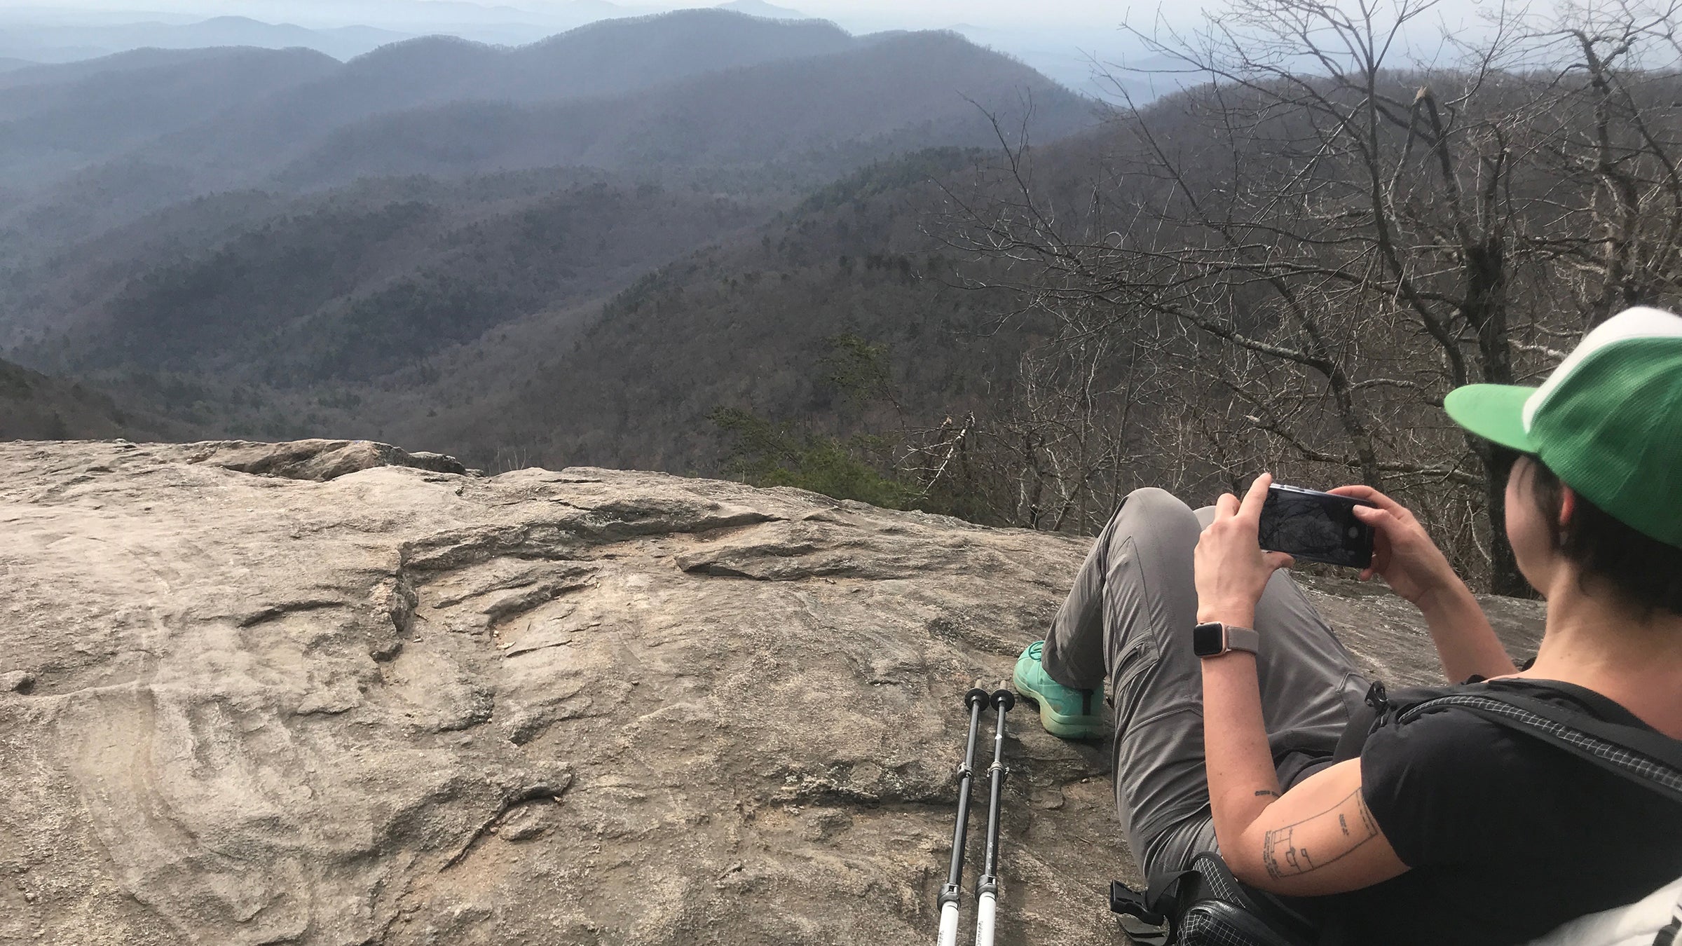
[[(1605, 700), (1573, 688), (1586, 700)], [(1374, 683), (1367, 709), (1349, 720), (1332, 761), (1361, 754), (1366, 737), (1381, 725), (1408, 722), (1430, 712), (1472, 712), (1490, 722), (1579, 756), (1682, 803), (1682, 742), (1648, 729), (1606, 722), (1554, 704), (1505, 692), (1413, 688), (1394, 699)], [(1610, 702), (1610, 700), (1606, 700)], [(1135, 933), (1135, 943), (1164, 946), (1341, 946), (1336, 911), (1322, 916), (1314, 897), (1278, 897), (1245, 885), (1216, 853), (1199, 853), (1186, 870), (1150, 880), (1149, 890), (1110, 884), (1110, 909), (1161, 931)], [(1679, 922), (1658, 931), (1655, 946), (1682, 946)]]

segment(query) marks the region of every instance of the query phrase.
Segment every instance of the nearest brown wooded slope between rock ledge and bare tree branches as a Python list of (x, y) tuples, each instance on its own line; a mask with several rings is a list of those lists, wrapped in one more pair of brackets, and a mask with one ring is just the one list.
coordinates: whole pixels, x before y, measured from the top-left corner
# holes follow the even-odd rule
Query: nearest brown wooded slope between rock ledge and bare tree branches
[[(718, 475), (717, 407), (831, 434), (974, 407), (1023, 340), (986, 337), (1002, 300), (949, 284), (952, 261), (920, 227), (940, 200), (932, 178), (984, 160), (950, 148), (870, 167), (604, 303), (486, 338), (444, 367), (456, 384), (439, 417), (387, 429), (488, 461)], [(547, 335), (552, 325), (563, 328)], [(841, 335), (886, 345), (886, 375), (865, 391), (838, 384)]]

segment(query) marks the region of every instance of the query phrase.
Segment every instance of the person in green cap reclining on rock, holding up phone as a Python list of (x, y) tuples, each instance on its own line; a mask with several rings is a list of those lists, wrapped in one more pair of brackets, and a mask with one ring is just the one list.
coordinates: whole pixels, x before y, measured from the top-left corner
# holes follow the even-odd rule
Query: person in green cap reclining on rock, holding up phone
[[(1547, 599), (1536, 660), (1514, 667), (1418, 520), (1367, 486), (1381, 576), (1425, 613), (1448, 680), (1682, 739), (1682, 318), (1635, 308), (1593, 330), (1539, 389), (1477, 384), (1445, 409), (1521, 451), (1507, 537)], [(1218, 850), (1246, 884), (1342, 914), (1378, 946), (1532, 939), (1682, 875), (1682, 806), (1563, 749), (1453, 709), (1330, 756), (1369, 690), (1349, 651), (1262, 552), (1270, 476), (1193, 512), (1139, 490), (1098, 535), (1018, 690), (1055, 736), (1102, 737), (1147, 877)], [(1203, 621), (1260, 650), (1198, 658)], [(1243, 636), (1243, 635), (1240, 635)]]

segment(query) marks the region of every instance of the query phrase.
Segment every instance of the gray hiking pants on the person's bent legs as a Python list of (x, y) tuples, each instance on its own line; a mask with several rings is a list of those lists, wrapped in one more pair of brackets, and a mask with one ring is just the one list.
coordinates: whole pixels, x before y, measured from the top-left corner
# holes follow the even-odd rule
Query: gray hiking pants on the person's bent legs
[[(1127, 497), (1051, 623), (1043, 662), (1065, 687), (1107, 687), (1115, 808), (1145, 877), (1216, 850), (1203, 764), (1203, 670), (1193, 549), (1214, 508), (1164, 490)], [(1332, 628), (1283, 571), (1256, 604), (1262, 717), (1282, 788), (1322, 768), (1366, 697)]]

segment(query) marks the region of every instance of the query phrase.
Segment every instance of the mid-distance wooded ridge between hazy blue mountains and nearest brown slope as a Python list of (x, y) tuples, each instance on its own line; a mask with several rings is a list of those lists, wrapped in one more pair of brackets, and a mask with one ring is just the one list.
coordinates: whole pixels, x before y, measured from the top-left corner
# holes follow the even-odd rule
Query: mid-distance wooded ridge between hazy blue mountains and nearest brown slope
[(368, 380), (765, 214), (653, 183), (579, 183), (516, 209), (380, 190), (303, 200), (220, 246), (126, 274), (72, 316), (67, 367), (279, 387)]

